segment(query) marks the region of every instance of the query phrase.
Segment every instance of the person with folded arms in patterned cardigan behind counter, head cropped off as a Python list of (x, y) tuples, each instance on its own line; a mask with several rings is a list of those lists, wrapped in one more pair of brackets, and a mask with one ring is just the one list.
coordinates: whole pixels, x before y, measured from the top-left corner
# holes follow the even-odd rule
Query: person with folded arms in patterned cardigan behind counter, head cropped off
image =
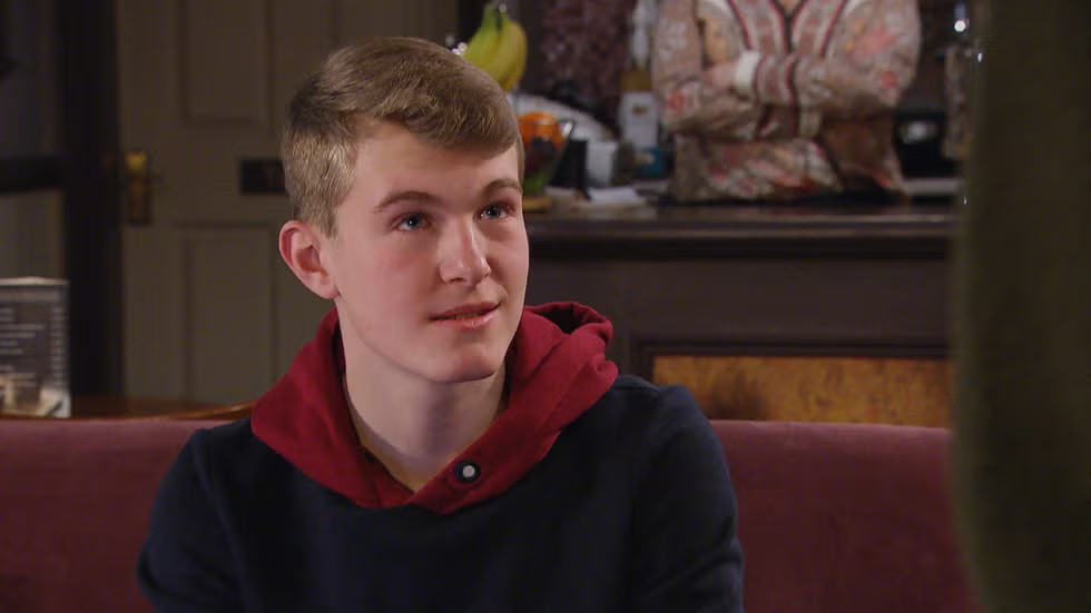
[(904, 194), (892, 109), (916, 0), (664, 0), (652, 77), (679, 200)]

